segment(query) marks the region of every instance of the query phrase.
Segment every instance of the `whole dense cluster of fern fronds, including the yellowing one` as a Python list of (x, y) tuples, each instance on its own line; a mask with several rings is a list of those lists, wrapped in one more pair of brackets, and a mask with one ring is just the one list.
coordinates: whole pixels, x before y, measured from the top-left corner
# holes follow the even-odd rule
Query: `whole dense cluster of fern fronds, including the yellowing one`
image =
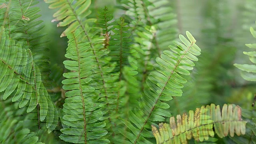
[[(167, 0), (117, 1), (124, 10), (120, 18), (106, 6), (95, 12), (91, 0), (44, 1), (57, 9), (52, 22), (60, 21), (60, 37), (68, 38), (64, 80), (58, 66), (50, 74), (38, 1), (0, 0), (0, 100), (10, 112), (1, 115), (0, 125), (10, 124), (7, 132), (0, 130), (2, 143), (46, 142), (44, 136), (52, 136), (52, 143), (152, 144), (155, 137), (159, 144), (183, 144), (192, 137), (208, 140), (213, 126), (220, 138), (245, 134), (239, 106), (224, 105), (222, 112), (214, 104), (202, 106), (178, 115), (177, 123), (167, 110), (173, 107), (168, 101), (182, 96), (201, 54), (190, 32), (174, 40), (176, 14)], [(52, 83), (60, 81), (56, 100)], [(37, 129), (23, 128), (23, 117), (15, 117), (6, 101), (26, 109), (25, 122)], [(169, 117), (170, 126), (161, 123), (158, 131), (155, 123)]]

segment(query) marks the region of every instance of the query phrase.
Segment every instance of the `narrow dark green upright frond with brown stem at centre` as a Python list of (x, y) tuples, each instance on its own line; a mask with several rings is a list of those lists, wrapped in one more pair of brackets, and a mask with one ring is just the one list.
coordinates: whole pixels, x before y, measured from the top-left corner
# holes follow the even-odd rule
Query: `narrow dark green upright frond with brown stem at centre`
[(137, 52), (132, 48), (132, 45), (130, 43), (132, 41), (132, 39), (129, 38), (131, 35), (129, 31), (130, 27), (127, 26), (127, 23), (124, 22), (124, 19), (120, 18), (120, 20), (118, 20), (118, 24), (113, 27), (114, 29), (112, 31), (115, 34), (111, 35), (108, 46), (108, 49), (110, 51), (108, 53), (108, 56), (105, 56), (105, 59), (109, 60), (110, 64), (105, 69), (105, 72), (108, 72), (108, 75), (113, 76), (111, 77), (111, 83), (114, 85), (114, 89), (117, 88), (116, 90), (113, 89), (114, 91), (112, 91), (116, 91), (115, 95), (117, 95), (112, 97), (117, 98), (117, 100), (115, 100), (116, 108), (114, 109), (116, 110), (116, 112), (118, 112), (118, 109), (122, 107), (120, 105), (120, 101), (122, 100), (120, 99), (125, 94), (124, 83), (122, 81), (126, 79), (126, 81), (130, 81), (130, 83), (136, 84), (136, 79), (133, 76), (136, 75), (138, 72), (136, 72), (137, 67), (134, 64), (136, 60), (132, 57), (136, 55)]

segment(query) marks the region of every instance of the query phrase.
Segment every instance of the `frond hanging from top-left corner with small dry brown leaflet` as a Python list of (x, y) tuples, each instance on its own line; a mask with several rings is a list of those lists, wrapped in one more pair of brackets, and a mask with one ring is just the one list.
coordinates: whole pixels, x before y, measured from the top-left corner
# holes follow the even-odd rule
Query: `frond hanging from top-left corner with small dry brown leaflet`
[(6, 2), (7, 8), (4, 11), (4, 19), (1, 24), (5, 27), (6, 34), (22, 48), (29, 48), (32, 52), (33, 62), (40, 68), (38, 75), (46, 88), (51, 88), (49, 78), (50, 59), (45, 56), (49, 49), (44, 47), (49, 40), (45, 38), (46, 33), (42, 32), (42, 20), (37, 20), (41, 15), (40, 9), (35, 7), (38, 1), (35, 0), (12, 0)]

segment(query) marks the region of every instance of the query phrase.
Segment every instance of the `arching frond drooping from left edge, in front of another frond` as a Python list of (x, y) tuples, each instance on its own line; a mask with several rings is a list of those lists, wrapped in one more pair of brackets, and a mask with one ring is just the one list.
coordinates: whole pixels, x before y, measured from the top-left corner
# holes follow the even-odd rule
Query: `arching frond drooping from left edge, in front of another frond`
[[(15, 93), (12, 101), (16, 102), (21, 99), (20, 108), (28, 102), (27, 112), (32, 112), (38, 107), (38, 114), (40, 112), (38, 122), (46, 118), (48, 132), (52, 131), (56, 127), (58, 114), (46, 88), (42, 84), (40, 70), (34, 63), (32, 52), (30, 49), (22, 48), (20, 44), (15, 45), (14, 40), (6, 36), (3, 26), (1, 27), (0, 37), (0, 68), (2, 69), (0, 73), (0, 81), (2, 81), (0, 91), (4, 91), (3, 99), (5, 100), (12, 93)], [(52, 112), (52, 110), (54, 111)]]

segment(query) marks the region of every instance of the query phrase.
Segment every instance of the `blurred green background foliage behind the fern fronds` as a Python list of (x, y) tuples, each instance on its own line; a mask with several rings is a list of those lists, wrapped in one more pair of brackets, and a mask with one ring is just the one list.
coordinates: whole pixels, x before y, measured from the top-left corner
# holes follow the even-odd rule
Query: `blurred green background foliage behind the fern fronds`
[[(154, 0), (151, 1), (154, 2)], [(118, 0), (94, 0), (90, 9), (99, 10), (107, 6), (114, 13), (114, 17), (118, 18), (124, 14), (124, 10), (117, 8), (118, 2)], [(68, 39), (66, 37), (60, 38), (60, 35), (66, 27), (56, 28), (58, 22), (51, 22), (52, 14), (56, 10), (48, 9), (48, 4), (43, 1), (39, 1), (38, 6), (41, 9), (40, 14), (42, 14), (40, 19), (44, 20), (46, 25), (42, 32), (48, 33), (46, 39), (49, 42), (44, 46), (50, 49), (47, 55), (51, 59), (52, 73), (50, 76), (54, 81), (52, 83), (53, 89), (48, 90), (48, 92), (54, 95), (51, 98), (56, 107), (63, 108), (64, 94), (61, 81), (64, 79), (62, 73), (67, 72), (63, 61), (67, 60), (64, 55), (68, 47)], [(250, 51), (245, 44), (255, 42), (255, 38), (250, 34), (250, 27), (256, 27), (255, 0), (172, 0), (166, 6), (170, 6), (169, 10), (174, 14), (172, 21), (166, 20), (166, 23), (159, 24), (159, 27), (166, 26), (163, 27), (163, 32), (173, 28), (168, 31), (170, 35), (166, 41), (174, 40), (178, 38), (178, 34), (185, 34), (188, 30), (196, 38), (197, 45), (202, 49), (196, 67), (190, 76), (185, 77), (188, 82), (182, 88), (184, 92), (182, 97), (174, 97), (168, 102), (170, 105), (168, 111), (171, 112), (172, 116), (176, 116), (211, 103), (221, 106), (225, 103), (237, 104), (242, 107), (243, 119), (248, 121), (246, 135), (223, 139), (215, 136), (214, 138), (216, 138), (216, 143), (249, 144), (254, 137), (250, 128), (255, 125), (250, 119), (255, 117), (254, 107), (252, 107), (256, 93), (255, 82), (244, 80), (240, 76), (240, 70), (233, 64), (250, 63), (248, 56), (244, 55), (243, 51)], [(154, 8), (150, 12), (154, 15)], [(94, 18), (95, 13), (92, 13), (90, 17)], [(171, 14), (170, 17), (172, 17)], [(150, 25), (150, 20), (145, 23)], [(152, 39), (154, 40), (154, 38)], [(160, 38), (160, 40), (164, 41), (164, 38)], [(168, 42), (166, 46), (163, 44), (162, 47), (168, 48), (167, 46), (170, 44), (171, 42)], [(152, 64), (148, 65), (150, 71)], [(18, 110), (18, 105), (10, 104), (11, 100), (3, 101), (2, 97), (0, 100), (1, 111), (9, 107), (9, 109), (17, 109), (15, 119), (11, 117), (9, 119), (15, 121), (13, 123), (17, 123), (16, 127), (19, 128), (16, 129), (23, 130), (20, 126), (23, 124), (24, 133), (29, 133), (34, 141), (36, 141), (35, 136), (38, 136), (38, 141), (46, 144), (66, 143), (58, 138), (61, 134), (60, 126), (57, 126), (51, 134), (47, 134), (47, 131), (44, 130), (38, 131), (33, 127), (34, 123), (29, 123), (34, 118), (33, 114), (25, 115), (26, 109)], [(61, 115), (63, 112), (59, 110), (59, 114)], [(1, 121), (6, 119), (1, 119)], [(198, 142), (190, 140), (189, 143)]]

